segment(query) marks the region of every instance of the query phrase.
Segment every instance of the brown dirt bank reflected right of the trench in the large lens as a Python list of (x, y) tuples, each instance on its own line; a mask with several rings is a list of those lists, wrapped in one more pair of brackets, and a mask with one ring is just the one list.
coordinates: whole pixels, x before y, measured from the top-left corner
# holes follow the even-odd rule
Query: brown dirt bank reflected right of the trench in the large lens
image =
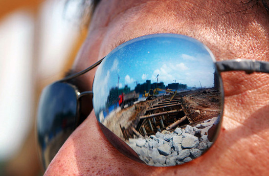
[(216, 116), (221, 112), (220, 91), (214, 88), (193, 90), (182, 93), (182, 107), (192, 122)]

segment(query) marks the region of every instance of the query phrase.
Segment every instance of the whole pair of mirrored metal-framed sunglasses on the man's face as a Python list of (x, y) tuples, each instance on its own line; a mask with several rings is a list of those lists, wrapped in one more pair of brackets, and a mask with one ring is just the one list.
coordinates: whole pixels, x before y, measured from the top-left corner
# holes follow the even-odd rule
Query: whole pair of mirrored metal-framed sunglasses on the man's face
[[(72, 80), (96, 66), (92, 91), (81, 92)], [(105, 136), (126, 156), (151, 166), (192, 161), (218, 136), (224, 110), (220, 72), (232, 70), (269, 73), (269, 63), (216, 62), (204, 44), (178, 34), (119, 45), (89, 68), (44, 88), (37, 115), (44, 167), (89, 115), (85, 97), (92, 99)]]

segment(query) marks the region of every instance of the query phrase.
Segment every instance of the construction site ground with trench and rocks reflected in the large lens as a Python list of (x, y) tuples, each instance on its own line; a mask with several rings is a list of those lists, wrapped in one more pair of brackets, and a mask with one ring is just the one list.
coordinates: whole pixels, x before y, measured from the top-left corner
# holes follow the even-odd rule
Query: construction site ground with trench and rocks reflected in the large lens
[(118, 95), (118, 106), (108, 106), (108, 115), (99, 115), (100, 122), (148, 165), (189, 162), (205, 152), (217, 137), (222, 96), (216, 88), (179, 92), (155, 88), (142, 96), (128, 87), (112, 88), (113, 91), (119, 92), (110, 94)]

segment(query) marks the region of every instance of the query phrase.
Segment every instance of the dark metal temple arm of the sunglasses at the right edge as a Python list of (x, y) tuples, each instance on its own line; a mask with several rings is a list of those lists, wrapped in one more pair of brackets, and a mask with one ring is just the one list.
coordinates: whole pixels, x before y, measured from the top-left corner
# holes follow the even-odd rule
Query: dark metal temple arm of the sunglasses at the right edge
[(249, 59), (232, 59), (216, 62), (219, 72), (224, 71), (246, 71), (247, 74), (253, 72), (269, 73), (269, 62), (249, 60)]

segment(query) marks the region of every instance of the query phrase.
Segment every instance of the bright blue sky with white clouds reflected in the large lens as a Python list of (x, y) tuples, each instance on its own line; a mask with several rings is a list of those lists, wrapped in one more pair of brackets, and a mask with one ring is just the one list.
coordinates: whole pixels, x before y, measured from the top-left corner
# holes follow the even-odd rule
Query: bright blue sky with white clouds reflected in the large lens
[(176, 34), (157, 34), (131, 40), (115, 48), (95, 75), (94, 108), (100, 109), (111, 88), (133, 90), (146, 80), (151, 83), (182, 83), (187, 87), (214, 86), (212, 54), (197, 40)]

